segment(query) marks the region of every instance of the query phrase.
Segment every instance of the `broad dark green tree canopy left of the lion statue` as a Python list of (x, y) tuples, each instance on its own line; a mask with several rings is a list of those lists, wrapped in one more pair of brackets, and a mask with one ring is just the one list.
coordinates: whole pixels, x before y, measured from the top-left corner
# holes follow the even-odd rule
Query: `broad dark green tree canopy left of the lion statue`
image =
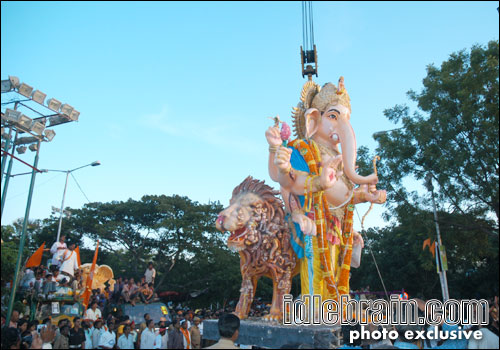
[[(98, 264), (109, 265), (115, 276), (139, 278), (152, 261), (157, 291), (199, 294), (198, 303), (223, 303), (238, 297), (241, 276), (239, 256), (227, 249), (227, 235), (215, 229), (221, 210), (219, 203), (149, 195), (71, 209), (63, 227), (72, 236), (100, 240)], [(44, 221), (38, 239), (53, 231), (54, 219)], [(93, 249), (82, 249), (82, 262), (92, 256)]]

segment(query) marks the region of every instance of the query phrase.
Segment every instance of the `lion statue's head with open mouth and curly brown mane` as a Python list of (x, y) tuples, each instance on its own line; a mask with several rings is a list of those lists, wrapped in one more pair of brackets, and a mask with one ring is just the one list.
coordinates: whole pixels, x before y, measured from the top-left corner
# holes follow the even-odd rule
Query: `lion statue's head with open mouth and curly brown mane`
[(275, 234), (284, 220), (279, 192), (263, 181), (247, 177), (233, 190), (229, 206), (219, 213), (215, 222), (221, 232), (231, 235), (227, 246), (234, 251), (258, 248), (263, 236)]

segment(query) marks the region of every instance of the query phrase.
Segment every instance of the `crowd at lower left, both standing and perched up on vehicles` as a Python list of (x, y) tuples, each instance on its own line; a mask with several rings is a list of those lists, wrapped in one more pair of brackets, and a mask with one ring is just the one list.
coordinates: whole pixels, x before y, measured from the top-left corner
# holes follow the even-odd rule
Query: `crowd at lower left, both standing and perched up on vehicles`
[[(75, 243), (67, 242), (62, 235), (46, 250), (52, 254), (47, 267), (25, 269), (20, 280), (21, 292), (37, 299), (72, 296), (77, 301), (86, 281), (78, 265)], [(29, 321), (33, 315), (28, 305), (24, 312), (14, 310), (8, 325), (2, 312), (2, 348), (199, 349), (207, 345), (202, 338), (203, 320), (217, 319), (231, 309), (193, 311), (178, 305), (177, 309), (170, 310), (170, 317), (153, 320), (146, 313), (140, 324), (135, 324), (128, 315), (111, 312), (108, 307), (111, 305), (129, 303), (135, 306), (138, 302), (158, 301), (154, 292), (155, 278), (152, 262), (138, 282), (134, 278), (118, 277), (112, 290), (107, 286), (103, 290), (92, 290), (88, 308), (81, 317), (61, 318), (57, 325), (50, 317)], [(260, 309), (259, 306), (259, 312)]]

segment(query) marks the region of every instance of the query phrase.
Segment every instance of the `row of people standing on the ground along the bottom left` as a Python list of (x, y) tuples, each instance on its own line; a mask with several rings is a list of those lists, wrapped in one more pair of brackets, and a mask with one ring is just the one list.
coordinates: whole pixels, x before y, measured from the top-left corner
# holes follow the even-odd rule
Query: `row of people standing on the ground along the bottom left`
[[(220, 317), (227, 315), (234, 316)], [(190, 311), (180, 311), (172, 321), (145, 314), (140, 325), (112, 315), (95, 321), (61, 319), (53, 325), (50, 318), (28, 322), (14, 311), (8, 327), (4, 323), (2, 315), (2, 349), (201, 349), (209, 344), (203, 340), (202, 319)]]

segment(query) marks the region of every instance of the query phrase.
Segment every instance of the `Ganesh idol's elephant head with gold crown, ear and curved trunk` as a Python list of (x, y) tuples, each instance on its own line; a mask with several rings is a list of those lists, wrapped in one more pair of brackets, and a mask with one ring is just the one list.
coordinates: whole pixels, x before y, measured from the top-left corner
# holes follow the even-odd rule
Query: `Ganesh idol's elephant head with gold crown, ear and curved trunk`
[(356, 173), (356, 135), (352, 129), (351, 103), (340, 77), (338, 87), (327, 83), (322, 88), (313, 81), (304, 84), (301, 102), (293, 108), (297, 137), (312, 139), (331, 150), (342, 148), (344, 174), (355, 184), (376, 184), (376, 174), (361, 176)]

